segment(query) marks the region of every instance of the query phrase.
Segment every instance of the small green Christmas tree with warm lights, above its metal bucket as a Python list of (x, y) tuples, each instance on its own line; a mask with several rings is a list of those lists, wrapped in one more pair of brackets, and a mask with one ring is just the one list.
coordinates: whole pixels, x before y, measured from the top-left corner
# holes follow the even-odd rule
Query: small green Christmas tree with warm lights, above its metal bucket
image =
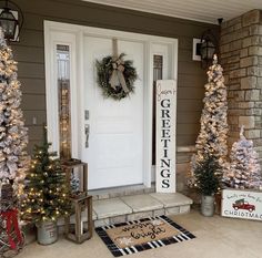
[(34, 223), (57, 220), (70, 210), (69, 187), (66, 173), (56, 153), (50, 153), (44, 128), (43, 143), (34, 147), (31, 167), (26, 176), (26, 197), (21, 205), (24, 220)]

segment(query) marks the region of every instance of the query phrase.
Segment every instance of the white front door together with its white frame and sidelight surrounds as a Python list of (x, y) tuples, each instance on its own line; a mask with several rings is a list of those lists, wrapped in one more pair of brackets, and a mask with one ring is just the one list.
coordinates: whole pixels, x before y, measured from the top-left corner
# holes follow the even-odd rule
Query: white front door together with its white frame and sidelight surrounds
[[(119, 53), (132, 60), (139, 79), (134, 94), (103, 99), (95, 60)], [(163, 58), (162, 79), (177, 79), (178, 40), (44, 21), (48, 136), (59, 153), (57, 45), (69, 47), (71, 153), (89, 164), (89, 189), (151, 185), (154, 55)], [(160, 78), (159, 78), (160, 79)], [(84, 134), (89, 128), (89, 135)], [(88, 142), (88, 145), (87, 145)]]

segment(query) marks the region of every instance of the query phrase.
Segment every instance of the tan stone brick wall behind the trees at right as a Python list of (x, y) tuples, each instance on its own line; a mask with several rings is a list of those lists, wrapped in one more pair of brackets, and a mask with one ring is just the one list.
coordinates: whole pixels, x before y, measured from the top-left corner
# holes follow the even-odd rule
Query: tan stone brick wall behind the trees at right
[(239, 138), (243, 124), (262, 162), (262, 10), (223, 22), (220, 47), (228, 86), (229, 145)]

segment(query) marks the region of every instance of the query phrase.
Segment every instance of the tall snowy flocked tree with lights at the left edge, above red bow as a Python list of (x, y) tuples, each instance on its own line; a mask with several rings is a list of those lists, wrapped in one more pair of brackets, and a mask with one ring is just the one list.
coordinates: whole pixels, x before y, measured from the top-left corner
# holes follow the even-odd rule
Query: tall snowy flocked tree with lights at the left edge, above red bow
[(12, 183), (19, 189), (27, 171), (28, 133), (20, 109), (21, 91), (17, 71), (12, 50), (7, 45), (0, 28), (0, 186)]

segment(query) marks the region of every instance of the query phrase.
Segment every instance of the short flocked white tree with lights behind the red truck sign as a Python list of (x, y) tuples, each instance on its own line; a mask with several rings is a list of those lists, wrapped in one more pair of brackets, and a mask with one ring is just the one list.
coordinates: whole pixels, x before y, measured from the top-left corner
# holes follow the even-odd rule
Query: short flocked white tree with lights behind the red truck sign
[(230, 158), (230, 169), (223, 178), (226, 186), (240, 189), (262, 187), (259, 155), (253, 142), (244, 137), (244, 126), (241, 126), (240, 140), (232, 145)]

